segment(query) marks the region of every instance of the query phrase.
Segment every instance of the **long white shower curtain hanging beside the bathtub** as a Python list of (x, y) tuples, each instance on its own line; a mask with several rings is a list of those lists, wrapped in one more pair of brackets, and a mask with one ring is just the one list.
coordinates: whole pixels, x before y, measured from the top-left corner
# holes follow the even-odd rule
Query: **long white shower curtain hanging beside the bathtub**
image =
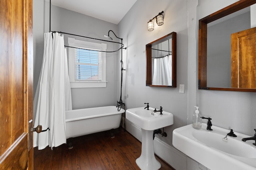
[[(66, 143), (65, 111), (72, 109), (64, 37), (59, 33), (44, 33), (44, 57), (34, 96), (34, 147), (44, 149)], [(48, 129), (49, 128), (49, 129)]]

